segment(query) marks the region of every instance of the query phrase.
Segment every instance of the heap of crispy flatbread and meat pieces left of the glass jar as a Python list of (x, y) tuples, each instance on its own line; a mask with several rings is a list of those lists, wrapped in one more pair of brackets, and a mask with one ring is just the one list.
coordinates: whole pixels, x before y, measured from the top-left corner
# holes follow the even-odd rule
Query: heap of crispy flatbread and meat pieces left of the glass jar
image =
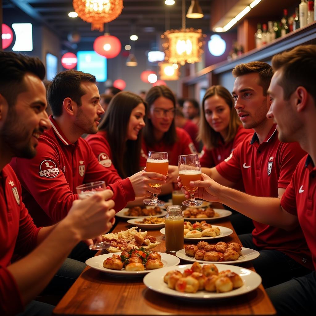
[(104, 242), (110, 242), (111, 247), (107, 248), (108, 252), (121, 252), (129, 251), (132, 248), (139, 249), (141, 247), (144, 250), (149, 250), (158, 246), (160, 242), (156, 240), (155, 236), (147, 234), (147, 231), (142, 232), (140, 229), (137, 231), (137, 226), (129, 228), (127, 230), (122, 230), (119, 233), (108, 233), (102, 235)]

